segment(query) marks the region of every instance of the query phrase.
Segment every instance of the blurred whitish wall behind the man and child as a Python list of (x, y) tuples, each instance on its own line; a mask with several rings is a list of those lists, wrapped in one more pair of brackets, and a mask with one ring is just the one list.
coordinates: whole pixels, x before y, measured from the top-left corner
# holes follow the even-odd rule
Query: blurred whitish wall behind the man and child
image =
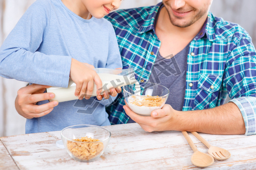
[[(35, 0), (0, 0), (0, 45), (26, 9)], [(124, 0), (120, 9), (155, 5), (161, 0)], [(211, 11), (218, 17), (240, 24), (256, 43), (255, 0), (213, 0)], [(25, 133), (25, 118), (15, 110), (18, 89), (26, 82), (0, 77), (0, 137)]]

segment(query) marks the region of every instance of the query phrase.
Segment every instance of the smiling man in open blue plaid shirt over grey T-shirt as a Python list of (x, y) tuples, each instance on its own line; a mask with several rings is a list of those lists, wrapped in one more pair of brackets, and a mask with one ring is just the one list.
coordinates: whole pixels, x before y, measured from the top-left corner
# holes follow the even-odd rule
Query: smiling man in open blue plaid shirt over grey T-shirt
[[(151, 117), (139, 116), (123, 106), (120, 93), (107, 108), (112, 124), (132, 119), (149, 132), (256, 134), (255, 48), (244, 29), (209, 12), (211, 3), (163, 0), (156, 6), (120, 10), (107, 16), (117, 34), (123, 68), (134, 68), (138, 81), (157, 82), (161, 77), (164, 80), (157, 83), (170, 89), (170, 101), (153, 111)], [(161, 67), (168, 66), (168, 62), (174, 66), (169, 69), (177, 68), (176, 73)], [(24, 95), (18, 95), (18, 99), (29, 97), (26, 89), (29, 87), (21, 90)], [(43, 95), (48, 99), (49, 94)], [(223, 104), (227, 95), (231, 101)], [(18, 103), (19, 112), (25, 107), (24, 102)], [(50, 109), (53, 105), (44, 107)]]

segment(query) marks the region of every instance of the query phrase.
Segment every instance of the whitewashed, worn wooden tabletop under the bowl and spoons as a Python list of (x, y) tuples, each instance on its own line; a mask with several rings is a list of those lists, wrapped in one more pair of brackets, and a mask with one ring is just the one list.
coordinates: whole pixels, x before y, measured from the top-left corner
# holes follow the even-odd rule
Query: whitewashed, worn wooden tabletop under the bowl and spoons
[[(73, 160), (56, 147), (60, 131), (1, 137), (0, 169), (201, 169), (191, 161), (192, 149), (181, 132), (145, 132), (137, 123), (106, 126), (111, 139), (96, 161)], [(188, 133), (199, 151), (203, 145)], [(200, 133), (201, 134), (201, 133)], [(231, 158), (204, 169), (256, 169), (256, 135), (201, 134), (213, 146), (224, 148)]]

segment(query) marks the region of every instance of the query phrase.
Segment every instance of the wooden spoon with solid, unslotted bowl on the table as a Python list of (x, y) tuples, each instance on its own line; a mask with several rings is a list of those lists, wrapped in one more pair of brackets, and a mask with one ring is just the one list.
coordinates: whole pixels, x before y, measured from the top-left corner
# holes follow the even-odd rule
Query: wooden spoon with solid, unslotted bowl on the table
[(193, 155), (191, 156), (191, 162), (193, 165), (203, 168), (213, 164), (214, 159), (211, 155), (198, 151), (196, 145), (193, 143), (193, 141), (191, 140), (186, 131), (182, 131), (182, 134), (184, 135), (184, 137), (188, 141), (188, 144), (194, 151)]

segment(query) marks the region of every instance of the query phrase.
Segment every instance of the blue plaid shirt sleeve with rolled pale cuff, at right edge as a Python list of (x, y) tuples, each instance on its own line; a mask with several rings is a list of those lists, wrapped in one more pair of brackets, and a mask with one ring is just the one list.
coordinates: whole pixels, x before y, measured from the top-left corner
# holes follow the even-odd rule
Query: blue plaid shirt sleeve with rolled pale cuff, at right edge
[(230, 44), (224, 84), (231, 100), (240, 109), (245, 135), (256, 134), (256, 52), (247, 32), (234, 36)]

